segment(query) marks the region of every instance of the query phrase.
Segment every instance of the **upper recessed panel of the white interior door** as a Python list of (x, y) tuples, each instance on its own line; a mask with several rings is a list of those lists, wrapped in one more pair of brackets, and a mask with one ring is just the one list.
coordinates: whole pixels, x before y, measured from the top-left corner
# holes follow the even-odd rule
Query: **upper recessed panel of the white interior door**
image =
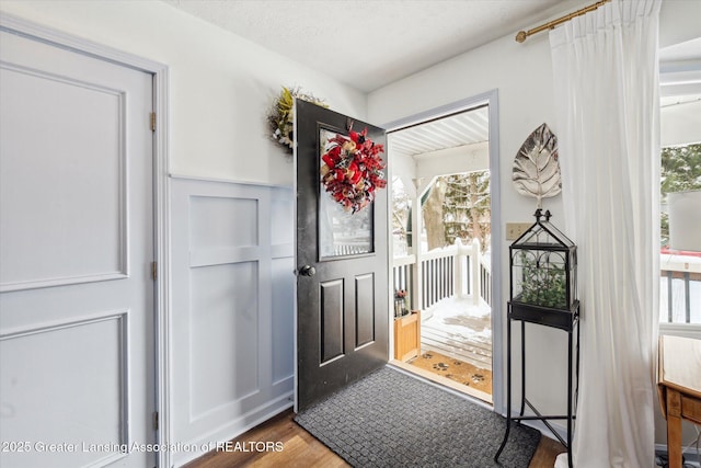
[[(2, 195), (7, 203), (21, 197), (23, 206), (3, 209), (2, 290), (124, 276), (125, 96), (44, 70), (5, 65), (0, 73), (2, 105), (12, 111), (3, 135), (24, 135), (3, 141), (3, 152), (14, 157), (2, 160)], [(56, 119), (46, 105), (79, 112)], [(35, 125), (48, 125), (50, 133), (32, 138), (26, 129), (34, 134)], [(81, 160), (87, 152), (93, 157)], [(69, 179), (73, 171), (84, 175)], [(56, 249), (57, 242), (65, 248)], [(78, 251), (82, 255), (74, 256)]]

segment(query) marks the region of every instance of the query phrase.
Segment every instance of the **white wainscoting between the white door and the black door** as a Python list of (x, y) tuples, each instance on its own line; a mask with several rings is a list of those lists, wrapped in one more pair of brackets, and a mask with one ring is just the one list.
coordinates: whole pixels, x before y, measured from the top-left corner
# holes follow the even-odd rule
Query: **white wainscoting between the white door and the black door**
[(172, 179), (172, 434), (202, 447), (292, 404), (291, 189)]

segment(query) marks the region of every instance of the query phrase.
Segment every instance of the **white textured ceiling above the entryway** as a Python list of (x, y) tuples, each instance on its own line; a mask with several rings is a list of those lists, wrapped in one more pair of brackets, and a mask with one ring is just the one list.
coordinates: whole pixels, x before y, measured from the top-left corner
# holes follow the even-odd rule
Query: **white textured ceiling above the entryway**
[(369, 92), (548, 18), (563, 0), (163, 0)]

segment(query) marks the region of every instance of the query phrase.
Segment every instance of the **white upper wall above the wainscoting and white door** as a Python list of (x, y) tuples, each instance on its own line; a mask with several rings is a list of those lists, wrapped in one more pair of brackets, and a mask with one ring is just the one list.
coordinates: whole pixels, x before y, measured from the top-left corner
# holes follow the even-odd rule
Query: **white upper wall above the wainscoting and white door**
[(175, 174), (291, 185), (291, 157), (266, 138), (280, 85), (366, 117), (361, 92), (160, 1), (3, 0), (0, 11), (168, 65)]

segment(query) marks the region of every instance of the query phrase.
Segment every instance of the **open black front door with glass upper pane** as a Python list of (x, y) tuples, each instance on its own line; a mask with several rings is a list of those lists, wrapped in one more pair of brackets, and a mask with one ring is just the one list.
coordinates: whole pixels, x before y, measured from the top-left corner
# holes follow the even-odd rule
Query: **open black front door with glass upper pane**
[[(314, 104), (296, 102), (297, 386), (296, 409), (383, 366), (389, 356), (388, 202), (377, 190), (365, 208), (344, 210), (322, 183), (322, 156), (336, 135), (384, 130)], [(386, 158), (386, 155), (382, 155)]]

